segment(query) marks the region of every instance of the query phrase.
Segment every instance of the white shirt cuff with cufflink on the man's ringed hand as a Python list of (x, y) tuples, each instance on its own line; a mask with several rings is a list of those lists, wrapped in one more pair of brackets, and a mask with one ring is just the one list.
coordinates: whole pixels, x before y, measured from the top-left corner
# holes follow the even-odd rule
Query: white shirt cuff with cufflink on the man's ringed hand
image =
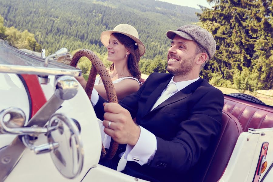
[(140, 127), (140, 136), (135, 146), (126, 146), (124, 159), (140, 165), (149, 164), (157, 151), (157, 139), (153, 133)]

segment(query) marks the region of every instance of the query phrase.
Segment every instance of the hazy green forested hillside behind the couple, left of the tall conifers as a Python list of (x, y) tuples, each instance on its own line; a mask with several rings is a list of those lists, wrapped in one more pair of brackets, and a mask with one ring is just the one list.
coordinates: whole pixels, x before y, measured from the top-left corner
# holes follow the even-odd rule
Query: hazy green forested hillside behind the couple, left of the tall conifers
[(170, 29), (198, 22), (194, 8), (154, 0), (0, 0), (0, 15), (6, 27), (28, 30), (49, 53), (61, 47), (69, 51), (106, 49), (100, 34), (120, 23), (133, 25), (146, 45), (143, 58), (166, 57)]

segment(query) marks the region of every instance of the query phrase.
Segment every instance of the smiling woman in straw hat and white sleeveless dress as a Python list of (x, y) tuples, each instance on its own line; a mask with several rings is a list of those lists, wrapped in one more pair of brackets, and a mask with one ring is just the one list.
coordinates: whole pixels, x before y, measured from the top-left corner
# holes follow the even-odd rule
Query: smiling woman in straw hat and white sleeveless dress
[[(127, 24), (117, 25), (113, 31), (101, 33), (100, 40), (108, 50), (107, 60), (113, 62), (109, 75), (113, 81), (118, 100), (136, 92), (140, 88), (140, 69), (138, 62), (145, 53), (145, 46), (139, 40), (136, 29)], [(83, 76), (77, 77), (85, 88)], [(106, 90), (100, 76), (95, 80), (94, 88), (107, 100)]]

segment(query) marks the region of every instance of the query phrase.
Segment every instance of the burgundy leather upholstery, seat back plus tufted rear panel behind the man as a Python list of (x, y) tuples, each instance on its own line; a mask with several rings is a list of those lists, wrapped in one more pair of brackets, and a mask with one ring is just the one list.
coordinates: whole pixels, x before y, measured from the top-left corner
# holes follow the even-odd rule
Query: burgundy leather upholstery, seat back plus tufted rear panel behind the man
[(240, 133), (248, 128), (273, 127), (273, 107), (224, 95), (222, 131), (203, 182), (218, 181), (227, 166)]

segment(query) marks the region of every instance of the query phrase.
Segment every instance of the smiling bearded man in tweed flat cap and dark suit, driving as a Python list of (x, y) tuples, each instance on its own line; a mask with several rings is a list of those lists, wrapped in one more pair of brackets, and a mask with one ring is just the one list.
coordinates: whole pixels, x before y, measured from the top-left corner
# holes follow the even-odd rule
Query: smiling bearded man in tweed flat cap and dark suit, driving
[[(223, 93), (199, 77), (216, 43), (196, 25), (168, 31), (167, 37), (170, 73), (151, 74), (120, 105), (99, 99), (95, 111), (104, 117), (104, 132), (126, 144), (123, 173), (149, 181), (199, 181), (196, 169), (207, 165), (221, 130)], [(111, 162), (116, 168), (118, 160)]]

